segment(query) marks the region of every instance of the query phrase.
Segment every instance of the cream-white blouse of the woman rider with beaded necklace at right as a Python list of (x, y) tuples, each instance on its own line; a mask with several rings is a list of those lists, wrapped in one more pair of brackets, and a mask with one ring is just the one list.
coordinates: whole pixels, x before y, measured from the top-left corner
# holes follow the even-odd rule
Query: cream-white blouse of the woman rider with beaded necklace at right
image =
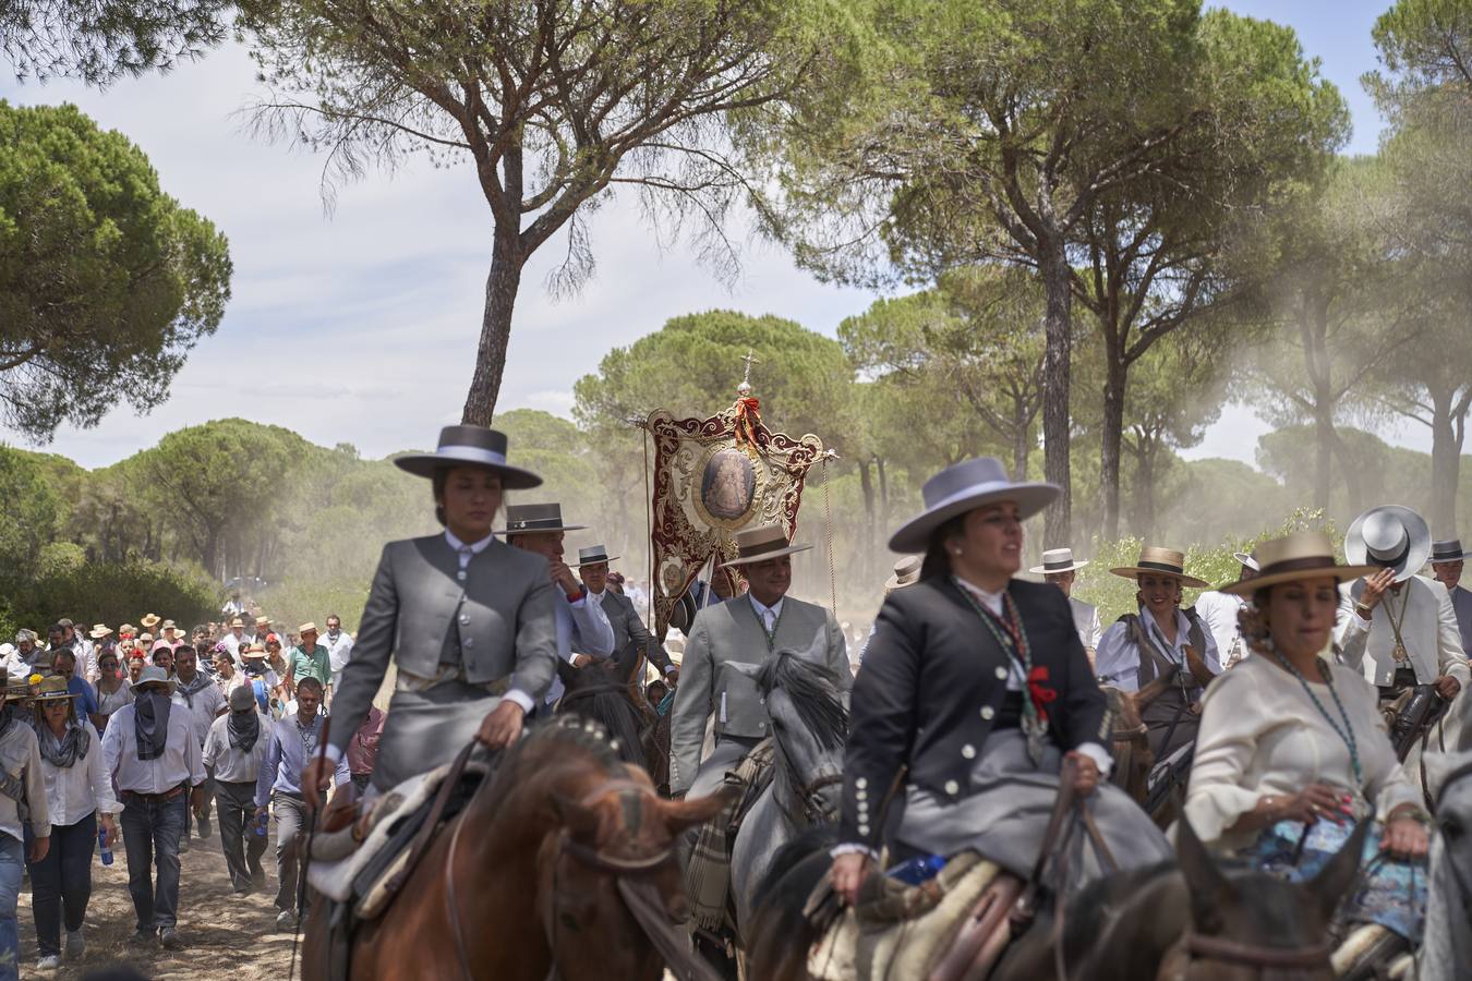
[[(1363, 785), (1356, 787), (1350, 749), (1298, 679), (1269, 656), (1253, 656), (1217, 677), (1203, 697), (1201, 729), (1186, 790), (1186, 818), (1197, 835), (1225, 849), (1257, 832), (1231, 832), (1267, 796), (1297, 794), (1309, 784), (1342, 787), (1357, 813), (1370, 806), (1384, 821), (1395, 807), (1420, 803), (1390, 743), (1379, 694), (1350, 668), (1331, 663), (1334, 688), (1350, 718)], [(1329, 687), (1309, 682), (1323, 710), (1342, 727)]]

